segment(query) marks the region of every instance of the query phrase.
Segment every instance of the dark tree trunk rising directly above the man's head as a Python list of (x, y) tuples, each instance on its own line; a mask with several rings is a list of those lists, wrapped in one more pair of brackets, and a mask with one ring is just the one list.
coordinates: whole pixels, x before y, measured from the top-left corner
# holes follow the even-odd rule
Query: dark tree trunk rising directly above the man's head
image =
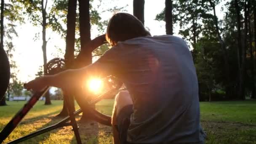
[(145, 0), (133, 0), (133, 15), (144, 24), (144, 4)]

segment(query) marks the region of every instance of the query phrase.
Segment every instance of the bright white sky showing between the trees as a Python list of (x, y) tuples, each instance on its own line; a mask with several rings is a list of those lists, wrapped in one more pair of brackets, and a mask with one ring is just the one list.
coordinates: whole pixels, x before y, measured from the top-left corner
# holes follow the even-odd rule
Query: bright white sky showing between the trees
[[(133, 0), (102, 0), (99, 11), (107, 8), (112, 8), (114, 5), (119, 7), (125, 7), (125, 12), (133, 13)], [(50, 3), (51, 4), (51, 1)], [(99, 0), (94, 0), (92, 3), (93, 7), (99, 5)], [(144, 21), (145, 27), (149, 28), (152, 35), (164, 35), (165, 34), (165, 22), (155, 21), (155, 16), (163, 11), (165, 7), (165, 0), (145, 0), (144, 5)], [(217, 15), (222, 18), (223, 13), (221, 13), (221, 7), (216, 7)], [(108, 20), (113, 14), (109, 12), (102, 12), (102, 20)], [(177, 35), (179, 28), (174, 27), (174, 35)], [(39, 66), (43, 65), (43, 52), (41, 49), (42, 40), (34, 40), (37, 33), (41, 35), (42, 28), (34, 27), (29, 21), (26, 24), (19, 25), (16, 29), (19, 37), (13, 39), (13, 44), (15, 46), (15, 53), (13, 54), (13, 59), (16, 61), (18, 67), (18, 79), (25, 83), (29, 80), (35, 78), (35, 74), (38, 72)], [(47, 44), (47, 57), (48, 61), (60, 57), (64, 57), (65, 51), (65, 40), (61, 39), (60, 35), (48, 30), (47, 39), (50, 37)], [(99, 35), (96, 28), (93, 26), (91, 28), (91, 39)], [(61, 49), (63, 52), (60, 52)]]

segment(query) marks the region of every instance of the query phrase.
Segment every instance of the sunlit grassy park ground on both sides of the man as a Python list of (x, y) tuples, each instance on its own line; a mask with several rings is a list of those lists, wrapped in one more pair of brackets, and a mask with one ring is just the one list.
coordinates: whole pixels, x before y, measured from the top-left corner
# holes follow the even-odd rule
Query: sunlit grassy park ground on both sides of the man
[[(4, 141), (5, 143), (32, 131), (52, 125), (61, 118), (55, 117), (62, 108), (62, 101), (52, 105), (37, 102), (20, 125)], [(0, 107), (0, 130), (24, 105), (24, 101), (7, 101), (8, 106)], [(96, 104), (96, 109), (111, 115), (113, 100), (107, 99)], [(78, 109), (78, 106), (76, 107)], [(207, 133), (206, 144), (256, 144), (256, 101), (201, 102), (201, 125)], [(80, 117), (77, 117), (79, 120)], [(79, 123), (84, 144), (112, 144), (111, 128), (98, 123)], [(75, 144), (71, 127), (59, 128), (23, 144)]]

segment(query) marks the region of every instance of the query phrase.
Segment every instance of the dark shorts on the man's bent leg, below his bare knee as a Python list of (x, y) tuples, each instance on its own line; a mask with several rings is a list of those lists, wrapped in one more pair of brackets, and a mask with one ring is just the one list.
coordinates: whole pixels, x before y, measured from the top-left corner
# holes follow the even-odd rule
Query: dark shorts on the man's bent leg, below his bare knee
[(127, 131), (130, 125), (130, 117), (133, 113), (133, 105), (127, 105), (123, 107), (117, 115), (117, 131), (119, 133), (119, 139), (121, 144), (129, 144), (127, 139)]

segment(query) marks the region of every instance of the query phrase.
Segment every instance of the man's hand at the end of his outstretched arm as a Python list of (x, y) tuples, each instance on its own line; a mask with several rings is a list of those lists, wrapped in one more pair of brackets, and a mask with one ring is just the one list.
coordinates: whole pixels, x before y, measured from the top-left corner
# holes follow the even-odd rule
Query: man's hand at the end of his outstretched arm
[(28, 91), (43, 91), (48, 85), (48, 79), (49, 76), (37, 77), (35, 80), (25, 83), (24, 88), (26, 88)]

